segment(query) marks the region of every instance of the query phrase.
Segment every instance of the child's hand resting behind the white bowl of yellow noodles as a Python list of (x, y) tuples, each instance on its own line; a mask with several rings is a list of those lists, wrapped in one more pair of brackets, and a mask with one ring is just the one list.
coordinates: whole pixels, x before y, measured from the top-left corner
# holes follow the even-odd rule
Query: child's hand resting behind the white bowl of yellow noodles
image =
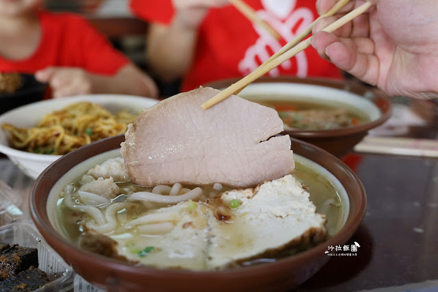
[(53, 97), (67, 97), (92, 93), (90, 74), (80, 68), (47, 67), (36, 71), (39, 82), (48, 83)]

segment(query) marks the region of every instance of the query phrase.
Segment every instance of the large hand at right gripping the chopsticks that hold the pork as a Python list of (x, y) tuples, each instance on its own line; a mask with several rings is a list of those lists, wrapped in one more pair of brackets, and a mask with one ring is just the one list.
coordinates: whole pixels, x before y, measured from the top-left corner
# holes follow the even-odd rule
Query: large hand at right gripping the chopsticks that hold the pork
[[(318, 0), (319, 13), (336, 1)], [(319, 21), (313, 47), (322, 58), (389, 95), (438, 98), (436, 0), (370, 1), (377, 5), (334, 34), (319, 31), (364, 1), (351, 1), (339, 15)]]

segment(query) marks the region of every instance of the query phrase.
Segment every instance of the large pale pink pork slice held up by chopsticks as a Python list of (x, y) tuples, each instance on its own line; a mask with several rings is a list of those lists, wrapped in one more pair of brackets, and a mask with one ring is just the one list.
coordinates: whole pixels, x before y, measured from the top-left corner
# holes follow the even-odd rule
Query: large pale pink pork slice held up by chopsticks
[(234, 95), (202, 110), (217, 93), (169, 97), (128, 127), (121, 154), (132, 182), (249, 187), (293, 171), (289, 136), (272, 137), (283, 130), (276, 110)]

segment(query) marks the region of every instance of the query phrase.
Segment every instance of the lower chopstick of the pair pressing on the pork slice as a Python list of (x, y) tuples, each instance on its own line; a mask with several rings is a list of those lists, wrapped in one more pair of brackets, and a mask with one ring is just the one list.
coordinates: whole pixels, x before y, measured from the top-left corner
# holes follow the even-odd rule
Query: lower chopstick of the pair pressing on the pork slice
[[(352, 21), (356, 16), (359, 16), (366, 12), (369, 8), (371, 8), (374, 3), (371, 2), (365, 2), (363, 5), (359, 6), (358, 8), (352, 10), (348, 14), (345, 14), (343, 17), (338, 19), (337, 21), (334, 21), (334, 23), (331, 23), (324, 29), (322, 29), (324, 32), (334, 32), (336, 29), (339, 29), (339, 27), (345, 25), (345, 23), (348, 23)], [(256, 70), (252, 71), (249, 75), (243, 77), (238, 82), (231, 84), (228, 86), (228, 88), (225, 88), (220, 93), (215, 95), (214, 97), (208, 99), (208, 101), (204, 102), (204, 104), (201, 105), (203, 110), (206, 110), (215, 104), (219, 103), (220, 101), (223, 101), (223, 99), (226, 99), (233, 95), (234, 93), (239, 92), (243, 88), (245, 88), (248, 84), (251, 82), (254, 82), (258, 77), (261, 77), (271, 71), (272, 69), (276, 68), (276, 66), (282, 64), (282, 62), (289, 60), (293, 56), (295, 56), (297, 53), (300, 53), (300, 51), (304, 51), (307, 47), (311, 45), (312, 38), (307, 38), (306, 40), (303, 40), (302, 42), (295, 45), (295, 47), (292, 47), (289, 50), (286, 50), (284, 53), (278, 55), (276, 58), (272, 58), (269, 62), (264, 64), (263, 66), (259, 66)]]

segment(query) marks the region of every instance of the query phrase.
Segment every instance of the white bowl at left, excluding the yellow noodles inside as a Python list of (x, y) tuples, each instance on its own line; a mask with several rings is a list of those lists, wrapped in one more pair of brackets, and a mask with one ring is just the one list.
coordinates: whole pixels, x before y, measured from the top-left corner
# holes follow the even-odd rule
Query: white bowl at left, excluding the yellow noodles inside
[[(136, 97), (131, 95), (77, 95), (62, 99), (47, 99), (15, 108), (0, 115), (0, 125), (10, 123), (16, 127), (34, 127), (45, 114), (60, 110), (69, 104), (79, 101), (90, 101), (101, 104), (110, 112), (128, 110), (133, 113), (141, 112), (143, 108), (154, 106), (157, 99)], [(13, 149), (8, 144), (6, 133), (0, 128), (0, 152), (8, 156), (14, 164), (30, 178), (38, 175), (60, 155), (35, 154)]]

